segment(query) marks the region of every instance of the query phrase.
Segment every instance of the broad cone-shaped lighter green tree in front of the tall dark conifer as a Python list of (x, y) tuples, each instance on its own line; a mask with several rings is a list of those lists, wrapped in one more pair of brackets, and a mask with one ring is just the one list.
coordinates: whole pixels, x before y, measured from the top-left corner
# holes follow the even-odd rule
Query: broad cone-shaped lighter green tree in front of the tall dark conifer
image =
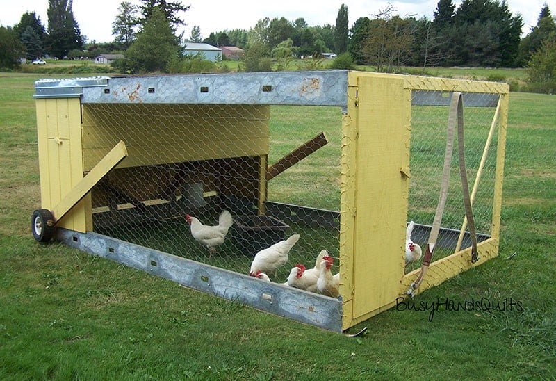
[(168, 72), (179, 54), (178, 39), (162, 10), (154, 9), (125, 53), (131, 72)]

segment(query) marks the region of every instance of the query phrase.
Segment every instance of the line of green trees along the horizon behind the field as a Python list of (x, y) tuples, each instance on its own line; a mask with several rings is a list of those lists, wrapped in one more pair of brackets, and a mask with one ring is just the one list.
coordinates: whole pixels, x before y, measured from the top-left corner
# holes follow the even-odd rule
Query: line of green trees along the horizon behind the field
[(117, 50), (125, 53), (123, 68), (129, 72), (167, 72), (171, 65), (179, 70), (185, 44), (206, 42), (245, 49), (245, 65), (253, 63), (252, 70), (264, 69), (268, 65), (260, 63), (271, 58), (287, 66), (295, 56), (318, 57), (330, 51), (343, 54), (346, 65), (395, 72), (402, 66), (524, 67), (534, 61), (537, 51), (556, 44), (555, 17), (546, 4), (537, 25), (524, 38), (523, 19), (512, 15), (505, 0), (463, 0), (459, 6), (439, 0), (433, 19), (401, 17), (389, 4), (371, 17), (357, 18), (351, 28), (347, 6), (342, 4), (334, 24), (309, 26), (302, 17), (293, 21), (265, 17), (249, 30), (212, 31), (206, 38), (197, 25), (188, 38), (177, 34), (178, 27), (185, 25), (182, 15), (188, 8), (181, 1), (141, 0), (140, 6), (123, 1), (113, 22), (114, 41), (84, 44), (72, 0), (49, 0), (48, 28), (34, 12), (22, 15), (13, 28), (0, 27), (5, 56), (0, 65), (10, 67), (10, 52), (12, 59), (18, 55), (34, 59), (44, 54), (62, 58)]

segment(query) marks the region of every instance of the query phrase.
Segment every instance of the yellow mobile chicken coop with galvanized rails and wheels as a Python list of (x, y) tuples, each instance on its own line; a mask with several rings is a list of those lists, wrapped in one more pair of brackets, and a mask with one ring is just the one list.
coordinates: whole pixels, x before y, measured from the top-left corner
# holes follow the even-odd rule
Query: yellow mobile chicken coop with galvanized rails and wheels
[[(504, 83), (344, 70), (40, 80), (31, 229), (341, 332), (498, 254), (508, 95)], [(454, 106), (470, 197), (448, 155)], [(209, 253), (186, 215), (217, 225), (223, 210), (234, 225)], [(404, 263), (409, 220), (422, 268)], [(274, 282), (247, 275), (291, 234)], [(322, 249), (338, 298), (280, 284)]]

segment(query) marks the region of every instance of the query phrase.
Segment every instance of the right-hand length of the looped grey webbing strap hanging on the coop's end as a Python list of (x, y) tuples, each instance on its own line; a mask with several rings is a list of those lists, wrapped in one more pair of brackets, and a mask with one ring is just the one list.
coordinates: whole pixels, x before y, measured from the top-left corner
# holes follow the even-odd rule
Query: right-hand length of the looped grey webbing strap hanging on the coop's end
[(477, 252), (477, 231), (475, 230), (475, 219), (473, 218), (473, 207), (471, 206), (471, 197), (469, 196), (469, 184), (467, 181), (467, 170), (465, 165), (465, 146), (464, 146), (464, 102), (459, 95), (457, 103), (457, 145), (459, 151), (459, 175), (461, 177), (461, 191), (464, 196), (465, 214), (467, 217), (467, 225), (469, 227), (469, 236), (471, 238), (471, 262), (475, 263), (479, 260)]

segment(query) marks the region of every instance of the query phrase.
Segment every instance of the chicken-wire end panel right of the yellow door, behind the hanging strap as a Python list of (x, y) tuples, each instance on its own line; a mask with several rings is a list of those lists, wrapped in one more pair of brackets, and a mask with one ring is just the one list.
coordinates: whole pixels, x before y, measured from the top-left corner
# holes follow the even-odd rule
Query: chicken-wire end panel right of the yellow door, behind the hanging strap
[[(414, 220), (418, 224), (412, 239), (423, 246), (423, 252), (429, 233), (427, 227), (433, 223), (439, 202), (450, 96), (450, 92), (426, 91), (414, 92), (413, 97), (408, 220)], [(422, 99), (429, 99), (428, 104), (420, 104)], [(431, 99), (440, 99), (440, 101), (432, 102)], [(496, 124), (493, 126), (493, 121), (497, 102), (498, 95), (493, 97), (491, 94), (464, 94), (466, 172), (469, 189), (474, 190), (472, 191), (473, 216), (479, 241), (488, 238), (491, 234), (496, 145), (498, 144), (497, 135), (492, 133), (491, 127), (496, 127)], [(471, 245), (466, 238), (463, 244), (460, 243), (460, 247), (457, 247), (465, 218), (457, 149), (457, 139), (455, 139), (448, 198), (441, 225), (443, 229), (439, 236), (439, 245), (434, 252), (435, 260), (453, 254), (456, 249), (464, 249)], [(477, 174), (480, 176), (477, 177)], [(417, 266), (420, 266), (420, 262), (411, 264), (407, 270)]]

